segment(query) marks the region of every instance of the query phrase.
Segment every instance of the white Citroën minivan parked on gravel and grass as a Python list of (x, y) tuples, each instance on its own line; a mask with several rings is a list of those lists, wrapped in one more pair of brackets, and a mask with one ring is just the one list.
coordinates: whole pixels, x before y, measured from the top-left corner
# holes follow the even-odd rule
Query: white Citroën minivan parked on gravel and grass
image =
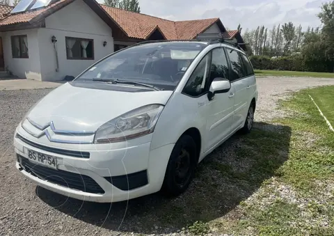
[(38, 101), (18, 125), (16, 167), (95, 202), (181, 194), (197, 164), (253, 126), (257, 86), (224, 40), (147, 42), (106, 56)]

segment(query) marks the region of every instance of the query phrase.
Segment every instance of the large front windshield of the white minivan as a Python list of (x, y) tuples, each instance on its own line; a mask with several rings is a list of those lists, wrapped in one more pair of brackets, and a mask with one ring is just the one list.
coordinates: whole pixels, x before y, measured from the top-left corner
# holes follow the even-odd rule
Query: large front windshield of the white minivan
[(159, 42), (129, 47), (104, 58), (75, 80), (123, 80), (173, 90), (205, 46), (200, 42)]

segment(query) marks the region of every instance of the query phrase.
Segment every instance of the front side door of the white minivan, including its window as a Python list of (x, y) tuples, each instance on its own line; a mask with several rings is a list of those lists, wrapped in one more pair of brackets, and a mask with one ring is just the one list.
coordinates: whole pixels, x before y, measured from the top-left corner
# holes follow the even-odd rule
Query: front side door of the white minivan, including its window
[[(229, 65), (223, 47), (212, 49), (209, 84), (216, 78), (228, 79)], [(207, 104), (207, 129), (205, 152), (211, 151), (228, 138), (234, 116), (234, 88), (228, 93), (217, 93)]]

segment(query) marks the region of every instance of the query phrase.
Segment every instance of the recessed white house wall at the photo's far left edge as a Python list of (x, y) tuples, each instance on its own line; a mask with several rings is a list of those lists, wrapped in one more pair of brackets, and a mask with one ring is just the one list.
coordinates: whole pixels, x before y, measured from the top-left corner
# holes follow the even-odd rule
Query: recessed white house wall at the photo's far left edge
[[(29, 58), (13, 58), (10, 36), (26, 35), (28, 38)], [(5, 68), (20, 78), (41, 80), (40, 53), (38, 48), (38, 30), (8, 31), (1, 33)]]

